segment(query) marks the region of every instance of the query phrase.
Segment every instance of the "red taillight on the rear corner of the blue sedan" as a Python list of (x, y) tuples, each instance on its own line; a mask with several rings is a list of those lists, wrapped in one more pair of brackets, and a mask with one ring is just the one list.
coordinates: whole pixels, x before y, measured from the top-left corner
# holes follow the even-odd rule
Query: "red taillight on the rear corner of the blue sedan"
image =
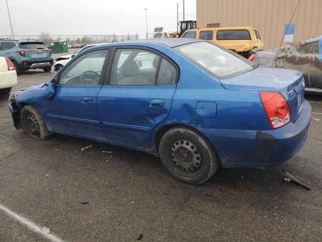
[(290, 122), (290, 108), (281, 93), (260, 91), (260, 97), (272, 129), (280, 128)]

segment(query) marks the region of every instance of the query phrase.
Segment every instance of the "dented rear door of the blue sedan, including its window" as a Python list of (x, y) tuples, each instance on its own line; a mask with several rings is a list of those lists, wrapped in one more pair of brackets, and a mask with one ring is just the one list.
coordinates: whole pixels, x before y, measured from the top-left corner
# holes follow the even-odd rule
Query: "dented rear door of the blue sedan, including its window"
[(108, 78), (98, 95), (107, 140), (150, 148), (153, 128), (171, 108), (179, 77), (177, 65), (149, 48), (114, 48)]

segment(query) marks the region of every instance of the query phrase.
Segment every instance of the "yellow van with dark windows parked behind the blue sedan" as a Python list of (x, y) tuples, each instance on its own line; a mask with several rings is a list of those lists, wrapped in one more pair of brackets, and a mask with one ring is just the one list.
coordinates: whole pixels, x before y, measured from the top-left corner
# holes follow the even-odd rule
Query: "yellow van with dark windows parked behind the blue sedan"
[(264, 48), (261, 34), (253, 27), (197, 28), (187, 30), (181, 38), (203, 39), (249, 57), (254, 48)]

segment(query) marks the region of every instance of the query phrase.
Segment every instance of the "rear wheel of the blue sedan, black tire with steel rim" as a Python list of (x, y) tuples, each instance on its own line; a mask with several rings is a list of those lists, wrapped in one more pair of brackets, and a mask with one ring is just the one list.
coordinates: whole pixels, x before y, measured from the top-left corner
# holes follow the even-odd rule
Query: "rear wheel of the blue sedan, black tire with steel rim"
[(174, 178), (192, 185), (204, 183), (219, 165), (218, 155), (210, 142), (189, 128), (169, 130), (160, 141), (159, 154)]

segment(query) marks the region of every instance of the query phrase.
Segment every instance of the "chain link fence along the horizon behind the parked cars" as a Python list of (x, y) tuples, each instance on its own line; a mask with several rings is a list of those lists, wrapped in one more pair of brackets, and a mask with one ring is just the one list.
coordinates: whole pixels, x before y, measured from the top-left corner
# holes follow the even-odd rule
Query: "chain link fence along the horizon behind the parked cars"
[(40, 35), (0, 35), (0, 39), (30, 39), (30, 40), (41, 40), (46, 45), (49, 42), (59, 41), (59, 40), (66, 40), (68, 43), (107, 43), (107, 42), (121, 42), (121, 41), (128, 41), (128, 40), (137, 40), (138, 34), (130, 35), (116, 35), (116, 34), (104, 34), (104, 35), (52, 35), (48, 33), (43, 33)]

